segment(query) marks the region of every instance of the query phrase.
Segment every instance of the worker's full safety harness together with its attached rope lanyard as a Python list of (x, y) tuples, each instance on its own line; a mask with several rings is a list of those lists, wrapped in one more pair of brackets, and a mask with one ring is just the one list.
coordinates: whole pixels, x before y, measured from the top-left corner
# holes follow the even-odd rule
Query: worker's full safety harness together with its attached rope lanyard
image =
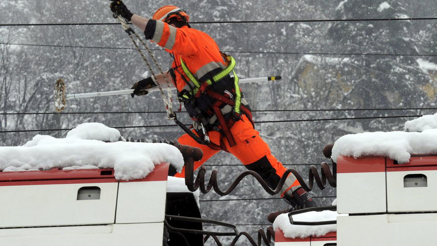
[[(134, 40), (135, 36), (136, 39), (139, 40), (139, 42), (146, 48), (147, 52), (149, 53), (150, 57), (152, 58), (153, 62), (155, 63), (156, 67), (158, 67), (160, 73), (163, 73), (160, 65), (158, 64), (157, 60), (155, 59), (155, 56), (149, 49), (149, 47), (146, 45), (146, 43), (134, 32), (134, 30), (130, 27), (128, 27), (126, 21), (124, 21), (120, 16), (117, 14), (113, 14), (113, 17), (116, 18), (120, 23), (123, 29), (125, 29), (125, 32), (128, 34), (130, 39), (132, 40), (132, 43), (134, 44), (136, 50), (139, 52), (139, 54), (142, 56), (143, 60), (146, 62), (147, 67), (149, 68), (150, 72), (152, 73), (152, 77), (155, 77), (155, 74), (153, 73), (152, 67), (149, 64), (149, 61), (146, 59), (146, 56), (142, 53), (141, 49), (137, 45), (137, 43)], [(253, 124), (252, 120), (252, 113), (250, 112), (250, 109), (246, 107), (246, 105), (242, 104), (242, 93), (238, 85), (238, 76), (234, 71), (235, 68), (235, 60), (232, 58), (232, 56), (227, 56), (226, 54), (222, 53), (222, 56), (225, 60), (226, 68), (219, 72), (218, 74), (215, 74), (212, 76), (212, 78), (209, 78), (205, 81), (199, 81), (196, 77), (194, 77), (193, 73), (188, 69), (187, 65), (182, 60), (182, 57), (180, 58), (181, 67), (184, 70), (184, 73), (188, 76), (188, 78), (191, 80), (191, 82), (195, 85), (195, 88), (191, 86), (189, 81), (185, 81), (187, 85), (191, 87), (190, 91), (185, 91), (189, 93), (180, 94), (180, 101), (182, 102), (188, 102), (193, 105), (193, 108), (196, 110), (198, 117), (196, 122), (200, 123), (201, 131), (196, 129), (197, 134), (200, 137), (203, 137), (201, 139), (196, 134), (194, 134), (187, 126), (185, 126), (182, 122), (180, 122), (177, 119), (176, 114), (173, 112), (173, 106), (172, 106), (172, 95), (171, 90), (168, 90), (168, 95), (164, 95), (163, 89), (161, 88), (160, 84), (158, 83), (158, 87), (160, 89), (161, 96), (164, 101), (164, 105), (166, 106), (167, 111), (167, 119), (171, 120), (173, 119), (174, 122), (184, 130), (185, 133), (187, 133), (189, 136), (191, 136), (196, 142), (199, 144), (205, 144), (208, 145), (212, 149), (216, 150), (225, 150), (228, 151), (225, 148), (225, 145), (223, 144), (223, 138), (220, 138), (220, 145), (214, 144), (210, 141), (208, 136), (209, 130), (215, 130), (218, 131), (220, 134), (222, 134), (229, 142), (230, 147), (233, 147), (236, 145), (236, 142), (234, 138), (232, 137), (232, 134), (230, 132), (230, 128), (233, 126), (233, 124), (241, 119), (241, 113), (246, 115), (246, 117), (250, 120), (250, 122)], [(173, 56), (174, 58), (174, 56)], [(171, 71), (171, 70), (170, 70)], [(211, 85), (216, 84), (220, 81), (222, 81), (225, 77), (229, 76), (230, 74), (233, 74), (234, 78), (234, 88), (231, 91), (225, 90), (224, 93), (219, 93), (217, 91), (214, 91), (211, 87)], [(174, 70), (172, 76), (174, 77)], [(182, 76), (184, 79), (185, 77)], [(166, 76), (164, 76), (167, 86), (170, 87), (170, 82), (167, 80)], [(175, 84), (176, 85), (176, 84)], [(202, 94), (208, 95), (210, 98), (213, 98), (215, 100), (214, 104), (212, 105), (212, 116), (207, 118), (204, 116), (204, 112), (202, 112), (201, 109), (199, 109), (196, 98), (199, 98)], [(232, 98), (235, 95), (235, 99), (232, 100)], [(223, 113), (223, 110), (226, 107), (232, 107), (232, 110), (229, 112), (232, 112), (232, 117), (225, 117), (229, 114), (229, 112)], [(217, 117), (214, 122), (210, 122), (213, 116)], [(226, 118), (229, 118), (226, 120)]]

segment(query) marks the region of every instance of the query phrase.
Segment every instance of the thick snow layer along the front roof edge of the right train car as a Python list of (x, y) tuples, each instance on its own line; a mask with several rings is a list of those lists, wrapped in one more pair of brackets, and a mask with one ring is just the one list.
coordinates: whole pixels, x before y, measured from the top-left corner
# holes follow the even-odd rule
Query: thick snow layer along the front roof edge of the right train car
[(385, 156), (402, 164), (411, 154), (437, 154), (437, 129), (348, 134), (335, 142), (331, 158), (336, 162), (339, 155)]

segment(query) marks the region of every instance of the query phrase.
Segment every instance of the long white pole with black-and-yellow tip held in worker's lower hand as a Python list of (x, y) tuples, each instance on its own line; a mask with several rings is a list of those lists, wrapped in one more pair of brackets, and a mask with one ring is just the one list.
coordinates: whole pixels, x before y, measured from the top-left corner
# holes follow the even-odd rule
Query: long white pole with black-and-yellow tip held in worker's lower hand
[[(239, 84), (246, 84), (246, 83), (255, 83), (255, 82), (267, 82), (267, 81), (275, 81), (280, 80), (281, 76), (270, 76), (270, 77), (258, 77), (258, 78), (247, 78), (247, 79), (240, 79)], [(175, 90), (176, 88), (174, 86), (161, 86), (163, 90)], [(147, 89), (147, 91), (159, 91), (160, 89), (150, 88)], [(101, 91), (101, 92), (90, 92), (90, 93), (79, 93), (79, 94), (69, 94), (66, 95), (66, 98), (88, 98), (88, 97), (101, 97), (101, 96), (112, 96), (112, 95), (125, 95), (125, 94), (132, 94), (134, 90), (121, 90), (121, 91)]]

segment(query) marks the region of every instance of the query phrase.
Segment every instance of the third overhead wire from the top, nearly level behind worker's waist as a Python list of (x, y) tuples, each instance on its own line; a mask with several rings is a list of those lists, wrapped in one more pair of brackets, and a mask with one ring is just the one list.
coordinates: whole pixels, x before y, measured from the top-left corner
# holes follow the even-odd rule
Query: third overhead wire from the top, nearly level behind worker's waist
[[(267, 109), (252, 110), (252, 112), (336, 112), (336, 111), (397, 111), (397, 110), (436, 110), (437, 108), (405, 108), (405, 109)], [(0, 115), (78, 115), (78, 114), (149, 114), (166, 113), (165, 111), (120, 111), (120, 112), (30, 112), (30, 113), (0, 113)], [(186, 111), (181, 111), (186, 113)]]

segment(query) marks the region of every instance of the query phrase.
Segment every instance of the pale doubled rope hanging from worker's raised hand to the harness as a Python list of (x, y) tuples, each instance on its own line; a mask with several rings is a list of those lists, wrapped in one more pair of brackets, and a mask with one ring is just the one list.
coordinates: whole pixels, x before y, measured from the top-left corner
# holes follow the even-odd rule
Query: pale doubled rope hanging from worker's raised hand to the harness
[(129, 38), (132, 40), (132, 43), (134, 44), (136, 50), (141, 55), (142, 60), (144, 60), (144, 62), (146, 62), (146, 65), (149, 68), (150, 73), (152, 74), (153, 81), (156, 82), (156, 84), (158, 85), (158, 88), (160, 89), (160, 93), (161, 93), (161, 96), (163, 98), (164, 105), (165, 105), (166, 112), (167, 112), (167, 119), (168, 120), (176, 119), (176, 114), (173, 112), (173, 96), (172, 96), (171, 90), (167, 90), (167, 98), (166, 98), (160, 83), (156, 80), (156, 74), (153, 72), (152, 66), (150, 65), (150, 63), (147, 60), (147, 58), (144, 55), (144, 53), (142, 53), (142, 50), (139, 48), (138, 44), (135, 42), (135, 39), (132, 36), (132, 34), (135, 36), (136, 39), (139, 40), (139, 42), (147, 50), (147, 52), (149, 53), (149, 55), (152, 58), (153, 62), (155, 63), (156, 67), (158, 68), (159, 72), (164, 75), (164, 79), (165, 79), (165, 81), (167, 83), (167, 86), (170, 87), (170, 81), (168, 81), (168, 78), (167, 78), (166, 74), (164, 74), (163, 70), (161, 69), (161, 66), (159, 65), (159, 63), (156, 60), (155, 56), (153, 55), (152, 51), (149, 49), (149, 46), (147, 46), (147, 44), (139, 37), (139, 35), (136, 34), (135, 31), (128, 26), (128, 24), (126, 23), (125, 20), (123, 20), (123, 18), (121, 18), (120, 16), (118, 16), (116, 14), (114, 14), (113, 16), (114, 16), (114, 18), (116, 18), (120, 22), (120, 24), (123, 27), (123, 29), (125, 30), (125, 32), (129, 35)]

